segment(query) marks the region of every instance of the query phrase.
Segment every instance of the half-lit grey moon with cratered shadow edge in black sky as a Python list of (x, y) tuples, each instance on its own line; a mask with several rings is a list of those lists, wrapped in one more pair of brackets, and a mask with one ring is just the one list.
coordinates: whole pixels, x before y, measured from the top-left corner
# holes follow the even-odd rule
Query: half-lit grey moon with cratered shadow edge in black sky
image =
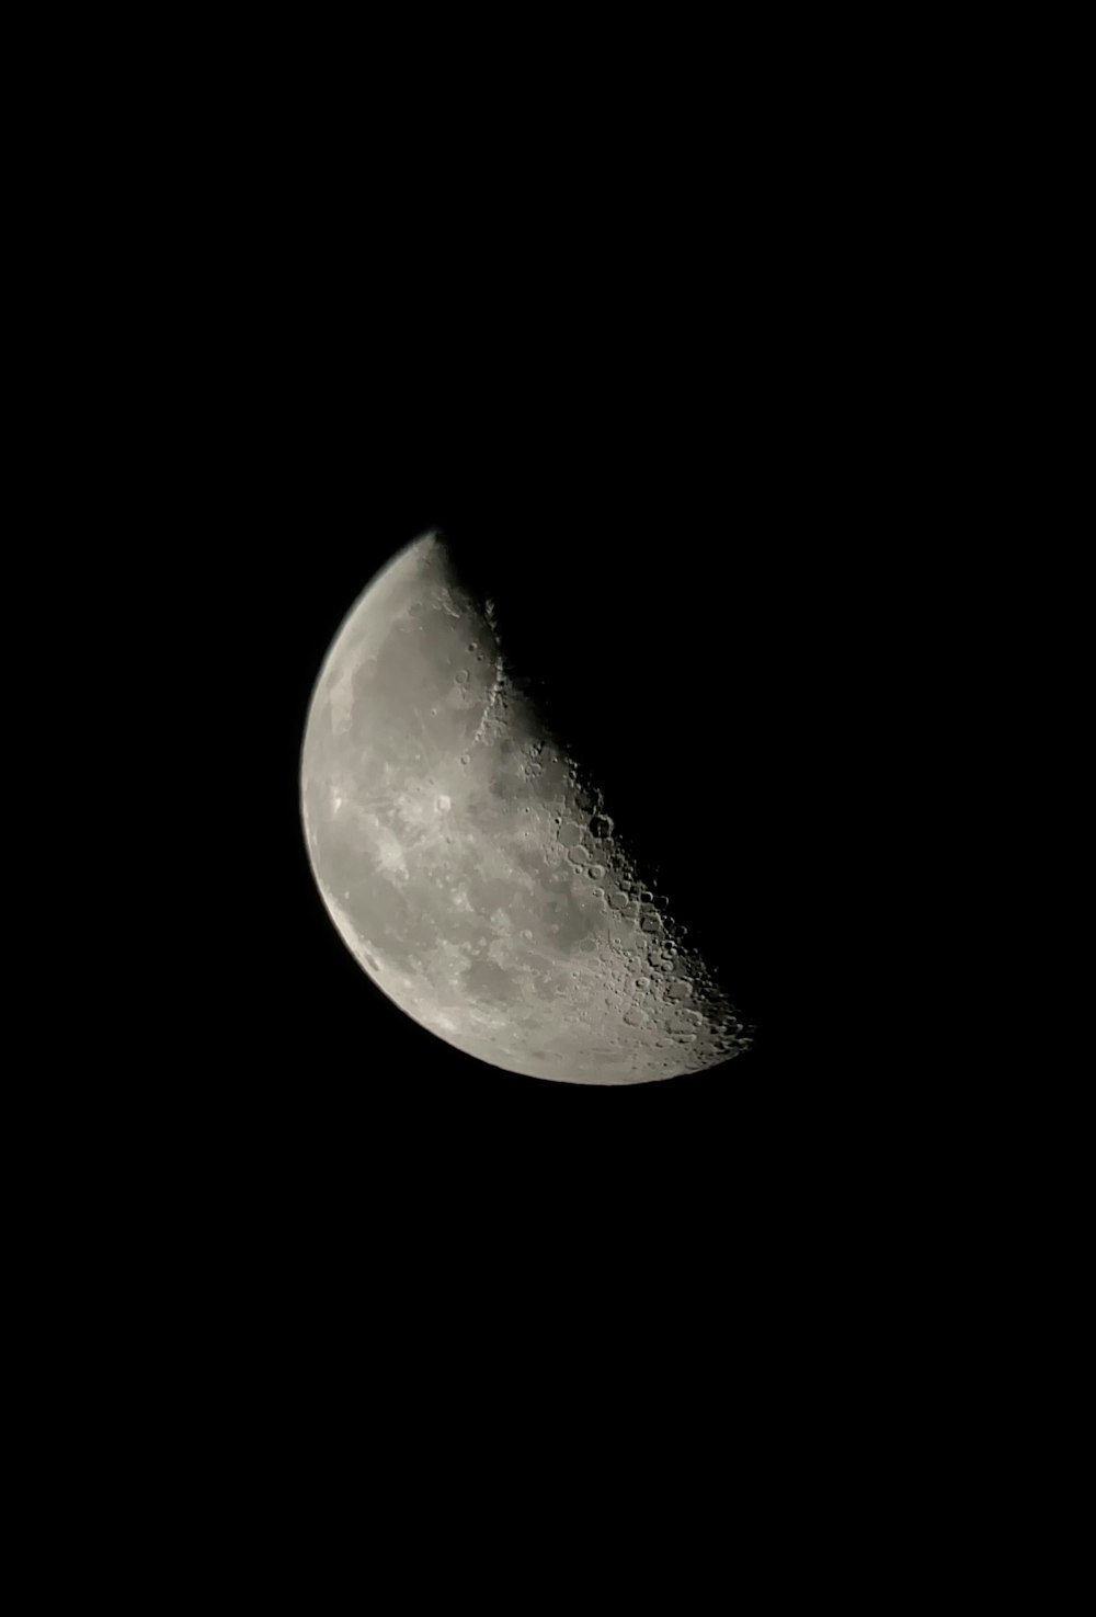
[[(752, 1028), (548, 731), (495, 605), (438, 532), (367, 585), (301, 754), (315, 883), (367, 977), (456, 1049), (537, 1079), (647, 1083)], [(618, 825), (618, 818), (621, 825)]]

